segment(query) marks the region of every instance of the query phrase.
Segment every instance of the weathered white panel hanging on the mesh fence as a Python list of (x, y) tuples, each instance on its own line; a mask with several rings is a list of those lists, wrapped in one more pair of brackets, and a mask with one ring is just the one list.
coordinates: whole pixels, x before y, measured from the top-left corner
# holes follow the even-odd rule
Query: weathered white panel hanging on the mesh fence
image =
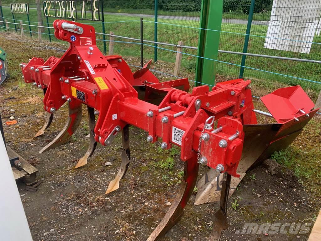
[(320, 10), (321, 0), (274, 0), (264, 48), (310, 53)]

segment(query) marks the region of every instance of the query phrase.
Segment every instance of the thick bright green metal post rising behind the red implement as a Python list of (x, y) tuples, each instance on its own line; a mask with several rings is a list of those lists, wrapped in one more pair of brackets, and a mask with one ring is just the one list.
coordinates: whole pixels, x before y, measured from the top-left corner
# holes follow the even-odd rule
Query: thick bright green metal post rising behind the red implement
[(201, 84), (215, 85), (216, 61), (205, 58), (217, 59), (222, 12), (222, 0), (202, 1), (200, 18), (200, 28), (202, 29), (199, 32), (197, 55), (204, 58), (197, 58), (195, 80), (199, 83), (195, 83), (196, 86)]

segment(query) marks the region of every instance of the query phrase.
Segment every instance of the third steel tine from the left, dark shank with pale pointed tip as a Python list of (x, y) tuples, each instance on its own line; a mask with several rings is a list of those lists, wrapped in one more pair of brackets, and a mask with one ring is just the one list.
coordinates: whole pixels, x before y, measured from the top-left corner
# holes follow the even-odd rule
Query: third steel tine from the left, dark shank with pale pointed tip
[(86, 154), (82, 158), (79, 159), (75, 168), (86, 165), (88, 157), (90, 157), (92, 155), (92, 153), (95, 151), (96, 146), (97, 146), (97, 141), (95, 140), (95, 137), (94, 137), (94, 129), (95, 129), (95, 125), (96, 125), (94, 108), (87, 106), (87, 110), (88, 110), (89, 127), (90, 127), (90, 134), (89, 134), (90, 143), (89, 143), (88, 149), (86, 151)]

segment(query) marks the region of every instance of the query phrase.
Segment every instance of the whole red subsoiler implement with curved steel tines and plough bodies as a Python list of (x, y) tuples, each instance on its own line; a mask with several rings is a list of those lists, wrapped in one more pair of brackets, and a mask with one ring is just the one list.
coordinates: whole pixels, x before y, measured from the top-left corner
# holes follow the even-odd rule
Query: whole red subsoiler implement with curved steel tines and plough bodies
[[(181, 147), (184, 180), (148, 240), (157, 240), (181, 218), (200, 164), (212, 169), (200, 179), (195, 203), (218, 201), (220, 197), (210, 235), (210, 240), (219, 240), (221, 231), (228, 227), (227, 200), (234, 190), (230, 187), (235, 188), (251, 167), (287, 147), (317, 112), (311, 111), (314, 104), (300, 86), (263, 96), (261, 100), (270, 113), (254, 110), (249, 80), (218, 83), (212, 90), (199, 86), (190, 94), (187, 78), (160, 83), (149, 70), (150, 62), (132, 73), (121, 56), (102, 55), (92, 26), (56, 20), (54, 28), (57, 39), (70, 43), (63, 57), (47, 61), (34, 57), (20, 65), (24, 81), (44, 91), (47, 119), (36, 136), (44, 133), (53, 114), (68, 102), (64, 129), (40, 153), (71, 139), (82, 118), (82, 104), (88, 107), (90, 145), (75, 168), (87, 163), (97, 142), (110, 145), (122, 132), (122, 163), (106, 194), (119, 188), (129, 166), (129, 125), (147, 131), (149, 142), (161, 138), (161, 148)], [(273, 117), (276, 123), (258, 124), (256, 113)], [(213, 183), (220, 182), (221, 173), (222, 186), (214, 190)]]

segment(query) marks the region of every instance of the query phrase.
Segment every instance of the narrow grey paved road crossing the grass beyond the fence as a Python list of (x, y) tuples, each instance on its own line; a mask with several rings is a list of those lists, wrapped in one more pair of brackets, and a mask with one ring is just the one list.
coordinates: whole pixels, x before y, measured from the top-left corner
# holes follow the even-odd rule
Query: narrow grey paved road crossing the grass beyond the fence
[[(9, 6), (3, 6), (10, 8)], [(37, 9), (35, 7), (30, 7), (29, 9)], [(80, 12), (80, 11), (79, 11)], [(91, 12), (87, 12), (91, 13)], [(136, 13), (105, 13), (109, 15), (116, 16), (126, 16), (126, 17), (140, 17), (140, 18), (154, 18), (152, 14), (136, 14)], [(158, 19), (167, 19), (167, 20), (185, 20), (185, 21), (196, 21), (199, 22), (199, 17), (190, 17), (190, 16), (171, 16), (171, 15), (158, 15)], [(247, 20), (243, 19), (228, 19), (223, 18), (222, 23), (234, 23), (234, 24), (244, 24), (247, 25)], [(255, 25), (269, 25), (269, 21), (252, 21), (252, 24)]]

